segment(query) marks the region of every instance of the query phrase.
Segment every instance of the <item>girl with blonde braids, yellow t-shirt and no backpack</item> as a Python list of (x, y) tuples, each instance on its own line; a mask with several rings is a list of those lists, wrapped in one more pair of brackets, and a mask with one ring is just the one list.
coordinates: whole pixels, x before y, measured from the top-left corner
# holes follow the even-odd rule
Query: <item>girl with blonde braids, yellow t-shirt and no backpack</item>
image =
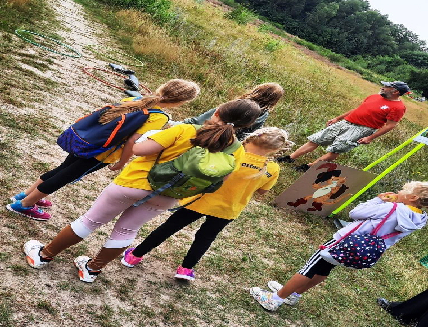
[[(293, 142), (288, 140), (287, 132), (277, 127), (264, 127), (251, 133), (243, 141), (245, 154), (239, 170), (233, 172), (218, 191), (205, 194), (194, 203), (179, 209), (152, 231), (140, 245), (126, 250), (122, 264), (135, 266), (143, 259), (143, 255), (168, 237), (206, 216), (175, 275), (176, 278), (194, 280), (193, 266), (209, 249), (217, 235), (233, 219), (238, 218), (255, 192), (264, 194), (275, 185), (280, 168), (267, 156), (279, 150), (288, 150), (292, 144)], [(180, 204), (189, 203), (197, 197), (199, 196), (183, 199)]]

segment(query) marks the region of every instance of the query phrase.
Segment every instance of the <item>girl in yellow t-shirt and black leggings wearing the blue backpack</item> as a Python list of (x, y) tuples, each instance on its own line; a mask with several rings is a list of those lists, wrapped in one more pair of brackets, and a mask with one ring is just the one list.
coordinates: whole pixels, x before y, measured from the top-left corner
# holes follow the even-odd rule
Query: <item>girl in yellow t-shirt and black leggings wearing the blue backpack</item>
[[(122, 100), (101, 116), (100, 123), (107, 123), (124, 113), (143, 109), (162, 109), (178, 107), (188, 101), (192, 101), (199, 94), (199, 87), (190, 81), (174, 79), (159, 86), (156, 92), (150, 96), (144, 96), (141, 100), (127, 98)], [(133, 101), (129, 101), (133, 100)], [(63, 163), (57, 168), (41, 175), (26, 191), (11, 197), (14, 203), (7, 205), (7, 209), (19, 215), (34, 219), (48, 220), (51, 215), (41, 208), (49, 208), (52, 202), (44, 199), (61, 187), (71, 183), (85, 174), (97, 171), (109, 163), (117, 163), (110, 166), (110, 170), (120, 170), (132, 157), (132, 146), (142, 134), (147, 131), (160, 129), (168, 122), (168, 116), (162, 113), (151, 113), (148, 120), (135, 132), (129, 135), (123, 148), (116, 151), (109, 150), (94, 158), (78, 158), (72, 154), (68, 155)]]

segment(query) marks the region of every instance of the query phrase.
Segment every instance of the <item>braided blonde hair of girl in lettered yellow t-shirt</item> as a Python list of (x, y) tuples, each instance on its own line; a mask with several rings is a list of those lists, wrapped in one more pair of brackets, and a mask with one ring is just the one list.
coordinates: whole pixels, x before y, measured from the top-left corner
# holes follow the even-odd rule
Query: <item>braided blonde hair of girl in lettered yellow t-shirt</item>
[(290, 141), (288, 137), (288, 133), (278, 127), (262, 127), (251, 134), (248, 134), (248, 136), (242, 141), (243, 146), (245, 146), (245, 144), (252, 143), (260, 148), (272, 151), (270, 153), (271, 156), (264, 162), (263, 169), (261, 169), (257, 174), (247, 178), (263, 176), (267, 171), (267, 165), (269, 162), (274, 160), (276, 157), (281, 156), (283, 152), (291, 150), (294, 142)]

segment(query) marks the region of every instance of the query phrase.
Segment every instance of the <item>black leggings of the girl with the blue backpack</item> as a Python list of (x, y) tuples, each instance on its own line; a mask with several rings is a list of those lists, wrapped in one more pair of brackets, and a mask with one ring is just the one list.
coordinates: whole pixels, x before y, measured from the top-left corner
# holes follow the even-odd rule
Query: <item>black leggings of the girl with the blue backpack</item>
[(102, 163), (95, 158), (82, 159), (68, 155), (57, 168), (40, 176), (43, 183), (37, 186), (37, 190), (44, 194), (52, 194), (83, 174), (88, 175), (108, 165), (108, 163)]

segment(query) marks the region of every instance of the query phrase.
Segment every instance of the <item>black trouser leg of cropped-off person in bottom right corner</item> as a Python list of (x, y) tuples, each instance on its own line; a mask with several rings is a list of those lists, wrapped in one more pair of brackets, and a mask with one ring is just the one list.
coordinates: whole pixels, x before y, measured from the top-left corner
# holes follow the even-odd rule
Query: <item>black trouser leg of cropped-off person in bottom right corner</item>
[(428, 326), (428, 290), (404, 302), (391, 302), (388, 312), (405, 324), (417, 323), (416, 327)]

